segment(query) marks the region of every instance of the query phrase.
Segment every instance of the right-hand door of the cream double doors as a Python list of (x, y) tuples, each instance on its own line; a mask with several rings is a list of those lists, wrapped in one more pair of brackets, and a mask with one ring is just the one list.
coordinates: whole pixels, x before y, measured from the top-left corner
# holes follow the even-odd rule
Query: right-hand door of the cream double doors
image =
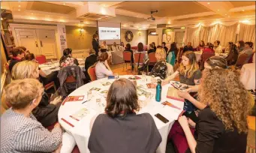
[(54, 30), (37, 29), (38, 45), (41, 48), (41, 54), (47, 58), (57, 58), (57, 47)]

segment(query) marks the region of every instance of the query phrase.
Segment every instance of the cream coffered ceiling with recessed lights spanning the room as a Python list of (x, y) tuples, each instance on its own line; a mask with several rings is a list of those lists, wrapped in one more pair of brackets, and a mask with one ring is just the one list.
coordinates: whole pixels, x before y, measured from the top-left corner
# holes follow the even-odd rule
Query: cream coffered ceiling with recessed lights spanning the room
[[(255, 1), (1, 1), (1, 8), (11, 10), (17, 23), (71, 26), (97, 26), (96, 18), (85, 17), (92, 12), (122, 28), (140, 29), (255, 20)], [(158, 10), (155, 21), (147, 20), (151, 10)]]

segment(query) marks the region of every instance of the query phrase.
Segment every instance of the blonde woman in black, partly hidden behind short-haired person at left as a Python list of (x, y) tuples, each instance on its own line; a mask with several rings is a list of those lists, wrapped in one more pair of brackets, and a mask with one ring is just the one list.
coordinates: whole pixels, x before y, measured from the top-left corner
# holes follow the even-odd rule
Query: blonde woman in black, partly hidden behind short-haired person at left
[[(14, 65), (12, 71), (13, 80), (23, 80), (26, 78), (38, 79), (39, 69), (38, 64), (32, 61), (23, 61)], [(58, 121), (58, 111), (61, 105), (62, 97), (55, 98), (53, 101), (50, 101), (47, 93), (43, 93), (40, 98), (40, 103), (38, 107), (32, 111), (35, 118), (44, 127), (48, 127)]]

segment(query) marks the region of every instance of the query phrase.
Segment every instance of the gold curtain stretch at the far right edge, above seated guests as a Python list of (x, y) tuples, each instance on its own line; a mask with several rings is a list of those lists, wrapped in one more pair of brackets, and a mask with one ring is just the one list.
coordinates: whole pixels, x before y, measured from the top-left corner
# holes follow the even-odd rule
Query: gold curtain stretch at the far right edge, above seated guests
[(239, 34), (237, 40), (253, 42), (255, 46), (255, 25), (245, 25), (240, 23)]

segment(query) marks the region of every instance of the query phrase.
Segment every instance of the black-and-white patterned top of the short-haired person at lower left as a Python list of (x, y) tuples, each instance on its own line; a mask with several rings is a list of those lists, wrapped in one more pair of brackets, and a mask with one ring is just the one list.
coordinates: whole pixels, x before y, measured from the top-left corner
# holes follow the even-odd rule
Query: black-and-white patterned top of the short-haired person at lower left
[(52, 152), (61, 142), (61, 128), (50, 132), (32, 114), (28, 118), (9, 109), (1, 117), (0, 152)]

